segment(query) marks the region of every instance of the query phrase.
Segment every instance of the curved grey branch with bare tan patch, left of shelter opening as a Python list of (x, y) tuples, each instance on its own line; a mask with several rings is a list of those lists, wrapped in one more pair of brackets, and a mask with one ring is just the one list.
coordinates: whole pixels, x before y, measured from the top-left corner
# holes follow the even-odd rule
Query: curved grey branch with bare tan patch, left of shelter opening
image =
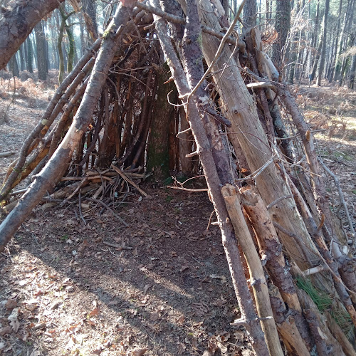
[(55, 154), (48, 161), (43, 170), (35, 177), (28, 191), (23, 194), (19, 203), (0, 226), (0, 251), (4, 251), (6, 243), (14, 236), (14, 233), (22, 224), (26, 216), (31, 212), (38, 201), (48, 189), (56, 184), (66, 169), (69, 159), (78, 145), (83, 132), (86, 130), (93, 111), (101, 95), (101, 89), (105, 83), (112, 58), (118, 48), (118, 40), (123, 28), (129, 21), (130, 15), (125, 6), (120, 5), (112, 22), (108, 26), (106, 36), (100, 48), (100, 53), (95, 61), (93, 72), (90, 75), (88, 87), (80, 103), (80, 107), (73, 118), (73, 123), (64, 137)]

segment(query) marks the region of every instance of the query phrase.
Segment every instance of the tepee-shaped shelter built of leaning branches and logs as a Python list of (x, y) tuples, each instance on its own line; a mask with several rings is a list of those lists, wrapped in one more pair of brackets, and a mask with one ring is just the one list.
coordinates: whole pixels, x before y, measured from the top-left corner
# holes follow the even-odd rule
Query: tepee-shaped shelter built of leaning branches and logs
[[(183, 8), (174, 0), (133, 5), (130, 10), (117, 6), (103, 38), (68, 73), (9, 167), (0, 192), (4, 204), (11, 189), (39, 169), (0, 225), (0, 251), (45, 192), (61, 192), (56, 182), (63, 176), (74, 182), (68, 184), (70, 197), (88, 182), (110, 182), (96, 187), (92, 198), (85, 197), (101, 205), (105, 202), (99, 196), (115, 204), (116, 195), (129, 185), (145, 196), (130, 176), (145, 177), (141, 167), (150, 151), (150, 128), (162, 136), (163, 150), (167, 147), (169, 120), (155, 122), (152, 113), (157, 112), (156, 94), (163, 100), (164, 85), (174, 81), (184, 109), (180, 116), (188, 120), (184, 131), (192, 132), (195, 141), (189, 157), (199, 157), (204, 191), (221, 231), (241, 312), (236, 325), (244, 325), (259, 356), (283, 355), (280, 339), (290, 355), (309, 355), (315, 349), (319, 355), (330, 350), (352, 355), (352, 345), (330, 310), (323, 315), (332, 321), (303, 288), (303, 283), (312, 283), (317, 295), (330, 295), (333, 308), (356, 325), (355, 269), (352, 256), (345, 253), (347, 236), (337, 229), (329, 209), (320, 172), (320, 165), (326, 166), (318, 159), (313, 132), (295, 98), (263, 49), (258, 28), (248, 28), (244, 41), (229, 36), (244, 3), (224, 32), (224, 9), (213, 8), (209, 0), (201, 0), (199, 9), (194, 0)], [(153, 22), (147, 13), (153, 14)], [(157, 86), (161, 50), (172, 77)], [(278, 126), (279, 105), (298, 132), (293, 140), (300, 137), (298, 150), (303, 151), (298, 157), (292, 150), (285, 159), (268, 139), (292, 138), (284, 137), (286, 130)], [(157, 129), (161, 121), (164, 127)], [(152, 135), (149, 143), (154, 139)], [(350, 234), (355, 236), (352, 221)]]

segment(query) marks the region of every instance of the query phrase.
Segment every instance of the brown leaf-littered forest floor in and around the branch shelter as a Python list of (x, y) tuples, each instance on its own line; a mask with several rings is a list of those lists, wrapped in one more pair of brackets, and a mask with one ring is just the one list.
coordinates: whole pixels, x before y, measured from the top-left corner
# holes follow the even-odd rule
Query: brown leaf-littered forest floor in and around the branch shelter
[[(51, 90), (33, 85), (0, 125), (0, 152), (17, 152), (46, 108)], [(1, 88), (6, 110), (11, 93)], [(355, 220), (356, 93), (296, 90), (313, 129), (328, 127), (320, 154)], [(1, 180), (12, 159), (0, 158)], [(132, 192), (116, 211), (128, 227), (100, 209), (84, 225), (78, 200), (33, 211), (0, 255), (0, 355), (251, 355), (230, 326), (239, 310), (219, 229), (206, 232), (208, 197), (141, 187), (148, 198)]]

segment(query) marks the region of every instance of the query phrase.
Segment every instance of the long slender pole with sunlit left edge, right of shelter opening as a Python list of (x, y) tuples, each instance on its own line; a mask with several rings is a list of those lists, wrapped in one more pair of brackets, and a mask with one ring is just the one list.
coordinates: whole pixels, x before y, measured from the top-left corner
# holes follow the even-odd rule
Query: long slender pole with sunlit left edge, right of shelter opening
[[(151, 0), (150, 4), (160, 8), (159, 2), (157, 0)], [(165, 1), (167, 4), (167, 1)], [(194, 9), (194, 6), (190, 4), (191, 8)], [(172, 76), (174, 78), (174, 82), (176, 83), (177, 90), (179, 95), (187, 95), (193, 88), (194, 84), (191, 83), (191, 86), (188, 84), (187, 77), (182, 68), (181, 62), (177, 57), (176, 52), (172, 46), (172, 42), (170, 38), (167, 36), (167, 26), (163, 19), (160, 19), (158, 16), (154, 15), (155, 27), (157, 31), (157, 36), (159, 38), (159, 42), (161, 43), (162, 50), (164, 55), (169, 58), (169, 67), (171, 69)], [(192, 21), (191, 25), (197, 26), (197, 21)], [(197, 30), (197, 28), (195, 28)], [(198, 32), (199, 33), (199, 32)], [(189, 35), (189, 31), (186, 32), (186, 35)], [(187, 44), (187, 43), (186, 43)], [(195, 56), (201, 56), (201, 51), (198, 49), (199, 46), (194, 46), (194, 51), (191, 51), (191, 54), (194, 53)], [(187, 58), (185, 58), (187, 61)], [(197, 58), (189, 58), (189, 63), (192, 61), (197, 61)], [(199, 63), (199, 62), (198, 62)], [(201, 63), (201, 57), (200, 57)], [(192, 68), (194, 68), (193, 66)], [(192, 70), (190, 68), (190, 70)], [(188, 69), (188, 68), (186, 68)], [(202, 68), (201, 68), (202, 70)], [(199, 77), (201, 71), (197, 71)], [(193, 77), (194, 78), (194, 77)], [(198, 79), (199, 80), (199, 79)], [(263, 337), (263, 332), (261, 330), (261, 325), (256, 318), (256, 313), (253, 309), (253, 302), (251, 299), (251, 295), (248, 290), (248, 286), (246, 283), (246, 279), (244, 277), (244, 268), (241, 263), (241, 258), (239, 255), (239, 248), (236, 245), (236, 239), (234, 235), (234, 229), (229, 219), (229, 215), (226, 211), (226, 206), (224, 203), (224, 198), (221, 195), (220, 187), (221, 180), (219, 178), (218, 172), (216, 171), (216, 165), (214, 164), (214, 156), (212, 154), (211, 143), (206, 136), (206, 132), (204, 130), (204, 126), (202, 125), (201, 120), (209, 120), (206, 115), (199, 114), (199, 102), (196, 103), (197, 98), (189, 98), (187, 100), (187, 104), (185, 105), (185, 110), (187, 112), (187, 118), (189, 120), (189, 124), (192, 127), (192, 132), (194, 135), (194, 139), (197, 144), (197, 152), (199, 152), (199, 157), (201, 159), (201, 164), (204, 169), (204, 174), (206, 177), (206, 182), (209, 187), (209, 194), (211, 196), (211, 201), (214, 204), (214, 209), (216, 211), (216, 216), (219, 221), (219, 227), (221, 230), (221, 239), (225, 249), (226, 258), (229, 264), (229, 269), (231, 272), (232, 281), (234, 284), (234, 289), (236, 293), (236, 298), (239, 302), (239, 307), (241, 311), (241, 319), (250, 333), (252, 338), (252, 347), (255, 350), (256, 354), (259, 356), (268, 355), (268, 349), (266, 347), (266, 342)], [(207, 123), (206, 123), (207, 124)], [(207, 124), (209, 125), (209, 124)], [(219, 135), (218, 135), (219, 137)], [(216, 146), (215, 146), (216, 147)], [(220, 145), (221, 150), (221, 145)]]

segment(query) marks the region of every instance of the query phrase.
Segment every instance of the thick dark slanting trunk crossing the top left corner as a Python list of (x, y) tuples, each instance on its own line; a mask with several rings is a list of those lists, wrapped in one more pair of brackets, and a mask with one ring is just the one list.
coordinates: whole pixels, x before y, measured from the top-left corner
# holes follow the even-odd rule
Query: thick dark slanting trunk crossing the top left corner
[(33, 0), (16, 4), (0, 19), (0, 69), (6, 66), (21, 43), (26, 40), (38, 21), (58, 7), (64, 0)]

